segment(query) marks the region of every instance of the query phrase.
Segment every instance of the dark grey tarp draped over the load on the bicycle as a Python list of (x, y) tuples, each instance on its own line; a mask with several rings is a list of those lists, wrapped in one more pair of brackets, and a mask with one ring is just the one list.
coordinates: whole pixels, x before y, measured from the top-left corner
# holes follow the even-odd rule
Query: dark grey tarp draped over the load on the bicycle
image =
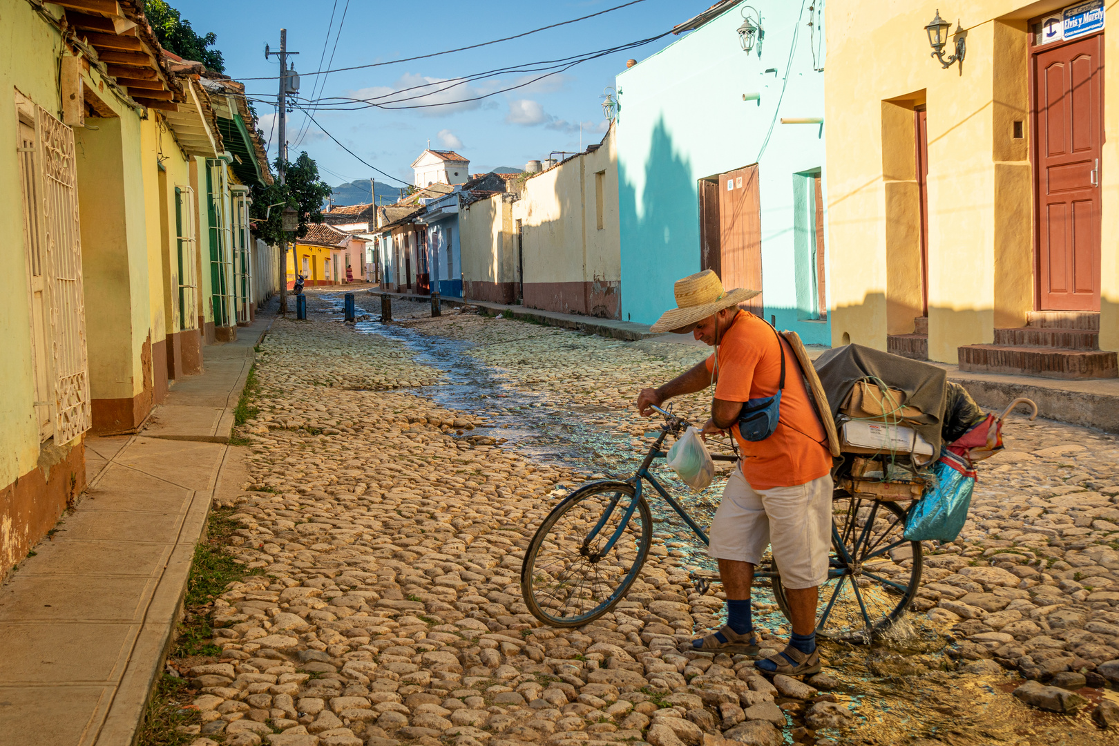
[[(857, 381), (878, 378), (891, 388), (904, 391), (906, 405), (925, 413), (921, 418), (924, 424), (914, 428), (932, 444), (934, 453), (940, 453), (944, 383), (948, 380), (943, 368), (862, 344), (845, 344), (828, 350), (816, 358), (814, 366), (827, 391), (833, 417), (839, 414), (840, 405), (847, 400)], [(836, 426), (839, 426), (838, 422)]]

